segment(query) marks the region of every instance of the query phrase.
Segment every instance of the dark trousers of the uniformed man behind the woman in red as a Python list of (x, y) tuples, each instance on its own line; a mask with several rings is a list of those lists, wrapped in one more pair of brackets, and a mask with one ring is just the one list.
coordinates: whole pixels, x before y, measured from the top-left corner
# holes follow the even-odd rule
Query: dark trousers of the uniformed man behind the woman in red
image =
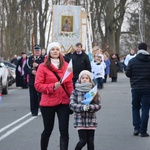
[(30, 110), (31, 113), (34, 115), (38, 114), (39, 109), (39, 102), (41, 99), (41, 94), (36, 91), (34, 86), (29, 86), (29, 93), (30, 93)]

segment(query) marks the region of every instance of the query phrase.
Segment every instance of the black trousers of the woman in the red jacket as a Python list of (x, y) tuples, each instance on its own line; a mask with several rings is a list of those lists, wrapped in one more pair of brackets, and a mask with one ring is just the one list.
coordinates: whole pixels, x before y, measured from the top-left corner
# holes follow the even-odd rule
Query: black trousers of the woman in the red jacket
[(44, 131), (41, 134), (41, 150), (47, 150), (49, 138), (54, 127), (56, 113), (60, 132), (60, 150), (68, 150), (69, 106), (60, 104), (53, 107), (41, 107), (41, 113), (44, 124)]

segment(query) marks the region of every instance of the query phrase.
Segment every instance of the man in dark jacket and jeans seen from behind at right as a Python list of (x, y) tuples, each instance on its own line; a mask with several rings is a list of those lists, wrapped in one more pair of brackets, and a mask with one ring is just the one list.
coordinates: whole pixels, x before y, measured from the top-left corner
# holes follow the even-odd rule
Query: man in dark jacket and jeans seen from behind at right
[(147, 133), (150, 110), (150, 54), (147, 44), (138, 45), (137, 55), (132, 58), (126, 69), (130, 78), (132, 93), (133, 135), (148, 137)]

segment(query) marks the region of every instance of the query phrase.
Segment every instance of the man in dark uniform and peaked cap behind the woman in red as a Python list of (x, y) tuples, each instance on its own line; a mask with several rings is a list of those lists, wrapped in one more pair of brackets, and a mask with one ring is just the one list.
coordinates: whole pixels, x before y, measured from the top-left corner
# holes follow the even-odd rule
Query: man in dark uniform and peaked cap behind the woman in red
[(38, 66), (42, 62), (44, 62), (44, 57), (41, 56), (41, 47), (39, 45), (35, 45), (34, 55), (28, 58), (24, 68), (25, 72), (29, 74), (30, 110), (32, 116), (38, 115), (39, 101), (41, 99), (41, 94), (34, 88), (34, 80)]

